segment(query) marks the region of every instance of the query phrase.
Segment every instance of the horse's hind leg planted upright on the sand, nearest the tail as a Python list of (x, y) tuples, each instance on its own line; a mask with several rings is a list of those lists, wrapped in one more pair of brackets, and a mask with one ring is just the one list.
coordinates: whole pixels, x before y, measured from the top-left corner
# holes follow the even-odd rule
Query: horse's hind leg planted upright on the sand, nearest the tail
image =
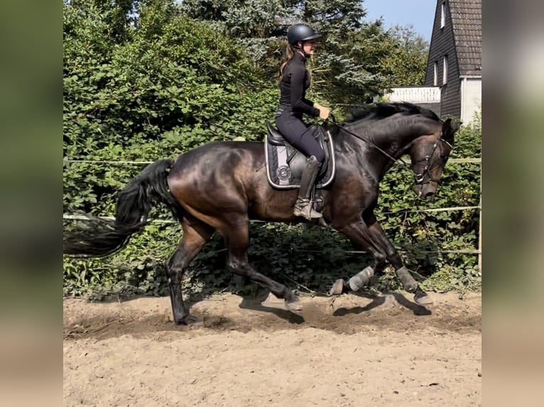
[(181, 225), (183, 227), (183, 238), (174, 254), (168, 260), (168, 289), (170, 289), (174, 323), (177, 325), (187, 325), (192, 319), (189, 308), (183, 302), (181, 290), (183, 272), (205, 243), (210, 240), (215, 229), (188, 215), (183, 218)]

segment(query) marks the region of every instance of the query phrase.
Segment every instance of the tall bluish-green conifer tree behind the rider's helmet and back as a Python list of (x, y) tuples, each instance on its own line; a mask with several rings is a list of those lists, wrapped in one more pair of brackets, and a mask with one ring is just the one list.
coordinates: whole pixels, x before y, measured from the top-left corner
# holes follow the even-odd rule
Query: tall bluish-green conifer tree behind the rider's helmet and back
[[(328, 101), (361, 103), (381, 76), (357, 60), (360, 45), (352, 38), (364, 27), (366, 15), (359, 0), (189, 0), (182, 9), (193, 18), (211, 21), (249, 50), (269, 83), (275, 86), (279, 61), (290, 25), (305, 21), (322, 33), (322, 50), (310, 63), (318, 87), (315, 96)], [(318, 89), (319, 90), (318, 90)]]

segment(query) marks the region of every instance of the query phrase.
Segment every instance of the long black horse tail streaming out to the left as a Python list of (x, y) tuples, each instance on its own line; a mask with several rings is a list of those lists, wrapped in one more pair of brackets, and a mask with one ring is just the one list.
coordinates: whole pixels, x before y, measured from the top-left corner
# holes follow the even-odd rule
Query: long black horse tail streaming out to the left
[(66, 255), (111, 255), (129, 242), (132, 234), (146, 225), (153, 204), (162, 202), (181, 219), (180, 204), (168, 190), (168, 171), (174, 160), (159, 160), (148, 165), (119, 194), (115, 221), (88, 216), (83, 225), (63, 239)]

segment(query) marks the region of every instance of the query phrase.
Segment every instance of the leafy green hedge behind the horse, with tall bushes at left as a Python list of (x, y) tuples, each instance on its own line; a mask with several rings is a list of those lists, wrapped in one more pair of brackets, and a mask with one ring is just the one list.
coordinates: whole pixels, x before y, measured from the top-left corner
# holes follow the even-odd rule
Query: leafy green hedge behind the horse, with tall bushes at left
[[(111, 11), (89, 6), (64, 13), (65, 213), (111, 216), (116, 195), (143, 165), (104, 165), (70, 160), (153, 161), (175, 157), (210, 140), (262, 140), (263, 120), (273, 118), (278, 89), (247, 50), (204, 23), (158, 10), (149, 2), (138, 29), (111, 33)], [(112, 40), (116, 38), (116, 40)], [(479, 121), (477, 121), (479, 123)], [(452, 157), (480, 157), (481, 128), (462, 128)], [(447, 165), (435, 199), (415, 200), (413, 175), (395, 166), (381, 184), (379, 212), (428, 207), (477, 206), (480, 166)], [(430, 289), (479, 287), (477, 255), (424, 253), (477, 247), (478, 211), (379, 213), (388, 236), (410, 269)], [(171, 220), (168, 211), (151, 218)], [(102, 259), (64, 259), (64, 293), (166, 294), (164, 262), (181, 228), (151, 223), (124, 250)], [(325, 291), (369, 259), (331, 229), (276, 223), (251, 225), (249, 258), (259, 271), (295, 287)], [(190, 265), (187, 289), (199, 293), (244, 289), (226, 272), (224, 246), (215, 236)], [(374, 281), (396, 288), (391, 270)]]

